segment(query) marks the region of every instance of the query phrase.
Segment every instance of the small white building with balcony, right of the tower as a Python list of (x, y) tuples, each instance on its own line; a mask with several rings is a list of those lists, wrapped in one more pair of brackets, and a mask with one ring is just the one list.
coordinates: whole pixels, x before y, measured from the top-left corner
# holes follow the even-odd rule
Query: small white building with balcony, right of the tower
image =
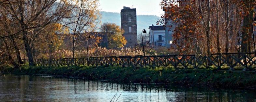
[(165, 27), (164, 26), (149, 26), (149, 43), (151, 46), (166, 46)]

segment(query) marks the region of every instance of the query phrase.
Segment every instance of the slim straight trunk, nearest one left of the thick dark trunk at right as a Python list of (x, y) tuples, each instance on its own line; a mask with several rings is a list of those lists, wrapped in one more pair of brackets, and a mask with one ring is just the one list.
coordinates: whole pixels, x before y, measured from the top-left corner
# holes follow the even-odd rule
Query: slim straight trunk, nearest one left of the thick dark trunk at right
[(229, 53), (229, 0), (226, 0), (226, 53)]

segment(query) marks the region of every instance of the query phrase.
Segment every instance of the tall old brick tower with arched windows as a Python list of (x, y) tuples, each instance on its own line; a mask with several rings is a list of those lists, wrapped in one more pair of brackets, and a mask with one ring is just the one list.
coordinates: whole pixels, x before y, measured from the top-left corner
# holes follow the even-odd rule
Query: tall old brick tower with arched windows
[(121, 28), (125, 31), (127, 40), (125, 47), (135, 47), (137, 44), (137, 16), (136, 8), (125, 7), (121, 9)]

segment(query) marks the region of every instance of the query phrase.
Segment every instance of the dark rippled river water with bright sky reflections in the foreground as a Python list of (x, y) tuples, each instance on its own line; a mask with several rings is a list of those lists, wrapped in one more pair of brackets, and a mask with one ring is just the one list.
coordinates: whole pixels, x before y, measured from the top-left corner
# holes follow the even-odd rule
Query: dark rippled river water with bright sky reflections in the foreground
[(248, 90), (184, 89), (160, 84), (118, 84), (53, 76), (0, 77), (0, 101), (118, 101), (255, 102)]

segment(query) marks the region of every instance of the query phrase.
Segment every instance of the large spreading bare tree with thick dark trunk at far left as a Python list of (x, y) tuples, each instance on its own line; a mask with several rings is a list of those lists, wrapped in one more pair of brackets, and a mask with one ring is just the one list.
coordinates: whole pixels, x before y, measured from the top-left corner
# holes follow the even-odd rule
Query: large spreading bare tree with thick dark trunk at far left
[[(10, 28), (15, 28), (7, 36), (21, 35), (29, 65), (34, 65), (32, 49), (38, 36), (42, 34), (38, 32), (67, 17), (73, 8), (71, 3), (72, 1), (62, 0), (8, 0), (3, 4), (8, 11), (8, 19), (11, 19)], [(1, 38), (4, 37), (6, 36)]]

